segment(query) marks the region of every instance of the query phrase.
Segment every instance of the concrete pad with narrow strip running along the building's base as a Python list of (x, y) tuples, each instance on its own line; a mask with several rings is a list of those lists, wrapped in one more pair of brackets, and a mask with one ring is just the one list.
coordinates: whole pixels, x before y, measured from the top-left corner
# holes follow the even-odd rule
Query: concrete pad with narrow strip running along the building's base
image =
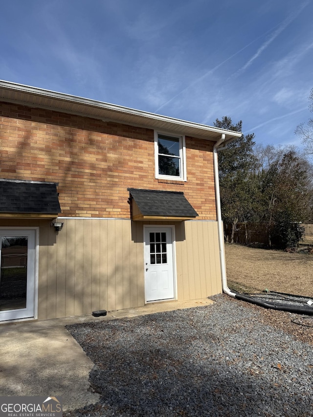
[(144, 307), (109, 311), (106, 316), (66, 317), (0, 325), (0, 396), (62, 396), (63, 410), (99, 400), (89, 384), (94, 364), (65, 329), (66, 325), (114, 320), (161, 311), (201, 307), (209, 299), (150, 303)]

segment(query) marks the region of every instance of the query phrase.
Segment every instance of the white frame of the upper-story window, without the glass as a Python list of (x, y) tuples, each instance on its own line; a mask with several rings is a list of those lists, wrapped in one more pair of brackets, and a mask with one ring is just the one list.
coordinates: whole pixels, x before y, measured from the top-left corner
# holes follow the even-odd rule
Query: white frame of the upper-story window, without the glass
[[(179, 139), (179, 160), (180, 160), (180, 176), (161, 175), (158, 173), (158, 135), (169, 136), (170, 138)], [(186, 139), (184, 135), (178, 135), (170, 132), (155, 131), (155, 173), (156, 178), (171, 179), (174, 181), (187, 181), (186, 171)]]

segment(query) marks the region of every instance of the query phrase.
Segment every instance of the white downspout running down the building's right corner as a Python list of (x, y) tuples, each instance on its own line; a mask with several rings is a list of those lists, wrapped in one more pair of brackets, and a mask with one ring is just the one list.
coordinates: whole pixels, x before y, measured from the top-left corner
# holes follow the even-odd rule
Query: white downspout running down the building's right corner
[(214, 165), (214, 179), (215, 179), (215, 196), (216, 196), (216, 212), (217, 212), (217, 223), (219, 231), (219, 248), (220, 248), (220, 262), (221, 262), (221, 274), (222, 274), (222, 288), (223, 291), (230, 295), (230, 297), (236, 296), (227, 285), (226, 276), (226, 264), (225, 264), (225, 249), (224, 249), (224, 228), (222, 222), (221, 213), (221, 197), (220, 197), (220, 181), (219, 181), (219, 160), (218, 160), (218, 148), (225, 140), (225, 133), (222, 133), (221, 139), (216, 142), (213, 147), (213, 165)]

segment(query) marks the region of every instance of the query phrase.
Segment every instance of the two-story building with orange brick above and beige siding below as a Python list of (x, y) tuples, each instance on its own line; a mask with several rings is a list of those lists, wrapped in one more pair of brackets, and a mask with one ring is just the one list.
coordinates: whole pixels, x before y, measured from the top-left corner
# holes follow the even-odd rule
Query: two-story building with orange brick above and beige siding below
[(0, 321), (220, 293), (214, 147), (240, 136), (0, 82)]

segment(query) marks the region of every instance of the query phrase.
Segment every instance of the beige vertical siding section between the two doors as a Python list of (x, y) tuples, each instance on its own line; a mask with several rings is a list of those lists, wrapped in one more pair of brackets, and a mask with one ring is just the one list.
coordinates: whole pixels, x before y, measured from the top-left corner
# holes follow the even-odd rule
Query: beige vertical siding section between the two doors
[(58, 234), (40, 229), (38, 318), (144, 305), (142, 242), (132, 240), (131, 221), (62, 221)]

